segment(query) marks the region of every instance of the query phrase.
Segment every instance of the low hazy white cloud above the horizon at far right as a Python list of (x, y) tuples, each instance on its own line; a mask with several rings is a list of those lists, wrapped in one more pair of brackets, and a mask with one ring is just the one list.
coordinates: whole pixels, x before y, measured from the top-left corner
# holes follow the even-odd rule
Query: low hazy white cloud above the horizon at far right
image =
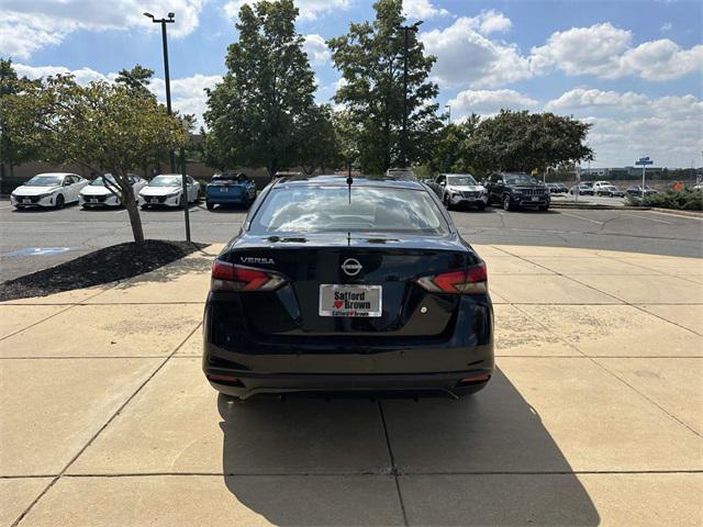
[(643, 155), (658, 166), (689, 166), (703, 149), (703, 102), (692, 96), (651, 99), (578, 88), (545, 104), (592, 123), (588, 142), (600, 166), (627, 166)]

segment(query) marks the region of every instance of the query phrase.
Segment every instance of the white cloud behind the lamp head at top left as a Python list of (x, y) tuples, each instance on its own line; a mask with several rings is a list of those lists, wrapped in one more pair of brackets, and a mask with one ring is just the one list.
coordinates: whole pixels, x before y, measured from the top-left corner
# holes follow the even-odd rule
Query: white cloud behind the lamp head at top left
[(205, 0), (3, 0), (0, 20), (0, 55), (29, 58), (34, 52), (60, 44), (79, 30), (124, 31), (140, 27), (158, 31), (142, 13), (165, 16), (172, 11), (176, 22), (169, 35), (192, 33)]

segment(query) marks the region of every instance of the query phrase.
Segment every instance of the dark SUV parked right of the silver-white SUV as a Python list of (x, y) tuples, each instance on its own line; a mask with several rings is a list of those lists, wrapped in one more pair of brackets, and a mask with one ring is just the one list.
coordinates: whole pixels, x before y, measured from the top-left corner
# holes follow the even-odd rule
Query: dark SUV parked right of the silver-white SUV
[(549, 209), (549, 190), (538, 179), (522, 172), (492, 173), (486, 181), (489, 204), (500, 204), (506, 211), (520, 206)]

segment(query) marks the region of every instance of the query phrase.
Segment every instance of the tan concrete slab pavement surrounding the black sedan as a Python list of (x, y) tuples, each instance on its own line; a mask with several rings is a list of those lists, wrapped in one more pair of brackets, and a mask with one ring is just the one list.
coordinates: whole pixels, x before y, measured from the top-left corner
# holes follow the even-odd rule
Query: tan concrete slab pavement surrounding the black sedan
[(461, 401), (217, 397), (200, 370), (216, 246), (0, 304), (0, 523), (701, 525), (700, 259), (477, 249), (499, 369)]

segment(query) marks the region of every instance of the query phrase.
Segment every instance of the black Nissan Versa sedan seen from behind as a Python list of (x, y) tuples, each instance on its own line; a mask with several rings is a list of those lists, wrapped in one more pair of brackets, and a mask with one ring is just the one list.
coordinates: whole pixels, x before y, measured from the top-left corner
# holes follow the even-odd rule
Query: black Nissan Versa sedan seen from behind
[(242, 399), (444, 392), (493, 373), (486, 264), (419, 181), (281, 178), (212, 267), (203, 370)]

